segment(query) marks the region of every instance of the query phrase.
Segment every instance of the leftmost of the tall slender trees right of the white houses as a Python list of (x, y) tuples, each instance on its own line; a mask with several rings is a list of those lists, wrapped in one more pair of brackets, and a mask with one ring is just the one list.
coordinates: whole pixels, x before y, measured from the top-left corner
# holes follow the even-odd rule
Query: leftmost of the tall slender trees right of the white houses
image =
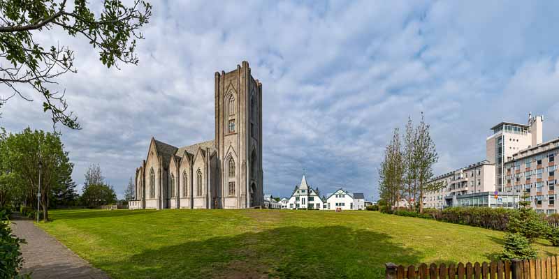
[(386, 146), (384, 159), (379, 168), (380, 197), (386, 201), (389, 210), (402, 196), (403, 175), (404, 161), (400, 132), (398, 128), (395, 128), (392, 140)]

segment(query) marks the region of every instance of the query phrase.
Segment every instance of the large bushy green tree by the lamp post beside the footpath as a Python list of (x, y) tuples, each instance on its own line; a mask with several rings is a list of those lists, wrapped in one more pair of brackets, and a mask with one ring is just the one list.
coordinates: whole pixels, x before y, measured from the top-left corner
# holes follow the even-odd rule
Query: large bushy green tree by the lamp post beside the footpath
[(20, 188), (22, 199), (32, 205), (37, 200), (41, 162), (40, 207), (43, 208), (43, 220), (48, 220), (51, 190), (73, 169), (59, 135), (43, 130), (31, 131), (30, 128), (22, 133), (10, 133), (0, 144), (0, 158), (9, 168), (11, 178), (8, 183), (13, 183), (10, 186)]

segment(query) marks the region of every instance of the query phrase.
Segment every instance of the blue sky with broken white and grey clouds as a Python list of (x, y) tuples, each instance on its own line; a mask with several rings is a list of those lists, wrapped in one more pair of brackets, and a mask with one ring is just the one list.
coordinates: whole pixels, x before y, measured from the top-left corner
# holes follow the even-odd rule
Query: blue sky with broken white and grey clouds
[[(78, 73), (60, 77), (82, 130), (60, 127), (79, 187), (101, 166), (122, 197), (151, 137), (185, 146), (214, 138), (214, 73), (248, 61), (263, 84), (264, 192), (307, 181), (378, 197), (377, 169), (408, 116), (430, 124), (435, 174), (485, 159), (500, 121), (544, 115), (559, 136), (557, 1), (152, 1), (138, 66), (106, 68), (82, 37)], [(10, 91), (0, 87), (0, 96)], [(0, 126), (52, 130), (39, 96), (13, 98)]]

